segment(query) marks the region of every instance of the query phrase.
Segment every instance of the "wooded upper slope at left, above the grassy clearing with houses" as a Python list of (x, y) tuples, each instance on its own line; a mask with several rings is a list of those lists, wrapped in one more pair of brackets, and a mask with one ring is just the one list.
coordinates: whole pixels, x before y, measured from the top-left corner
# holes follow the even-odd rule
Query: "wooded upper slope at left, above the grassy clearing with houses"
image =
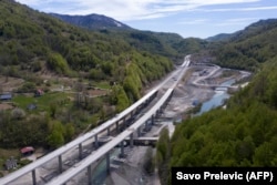
[[(13, 1), (0, 3), (1, 74), (27, 79), (25, 72), (32, 75), (47, 68), (61, 75), (121, 84), (135, 75), (145, 85), (172, 70), (167, 59), (137, 51), (124, 40), (78, 29)], [(138, 68), (136, 74), (124, 72), (131, 63)]]

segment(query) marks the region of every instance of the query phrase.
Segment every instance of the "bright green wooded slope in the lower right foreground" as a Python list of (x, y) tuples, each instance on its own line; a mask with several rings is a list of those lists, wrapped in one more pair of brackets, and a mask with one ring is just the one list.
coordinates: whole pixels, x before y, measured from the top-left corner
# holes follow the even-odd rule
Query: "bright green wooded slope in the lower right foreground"
[(217, 109), (179, 124), (172, 166), (277, 165), (277, 58), (253, 82)]

